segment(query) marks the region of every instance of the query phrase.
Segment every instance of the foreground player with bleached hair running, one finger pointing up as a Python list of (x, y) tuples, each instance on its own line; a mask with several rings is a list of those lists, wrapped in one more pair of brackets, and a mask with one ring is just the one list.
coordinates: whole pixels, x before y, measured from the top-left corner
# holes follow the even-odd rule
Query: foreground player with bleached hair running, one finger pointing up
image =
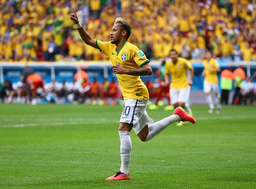
[(152, 69), (145, 54), (127, 41), (132, 34), (131, 25), (120, 17), (116, 18), (110, 32), (110, 42), (101, 42), (93, 39), (84, 30), (77, 19), (74, 7), (72, 9), (74, 14), (70, 15), (70, 19), (76, 24), (84, 42), (103, 51), (110, 58), (112, 62), (110, 68), (116, 74), (124, 96), (124, 110), (118, 128), (121, 141), (121, 168), (106, 180), (130, 179), (129, 163), (132, 150), (130, 131), (132, 128), (143, 142), (147, 142), (174, 122), (189, 121), (195, 123), (196, 121), (181, 108), (176, 108), (171, 116), (154, 122), (146, 112), (149, 99), (148, 90), (140, 79), (140, 75), (151, 75)]

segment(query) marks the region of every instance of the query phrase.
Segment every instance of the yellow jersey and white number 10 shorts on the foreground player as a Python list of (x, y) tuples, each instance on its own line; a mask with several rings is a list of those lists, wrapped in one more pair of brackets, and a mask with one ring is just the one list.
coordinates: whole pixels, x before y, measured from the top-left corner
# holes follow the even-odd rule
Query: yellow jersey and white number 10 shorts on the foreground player
[[(135, 45), (125, 42), (119, 51), (110, 42), (96, 40), (97, 47), (111, 59), (113, 65), (120, 64), (126, 69), (138, 69), (149, 60)], [(154, 121), (148, 116), (146, 108), (149, 94), (146, 85), (138, 75), (116, 74), (121, 92), (124, 96), (124, 110), (120, 122), (133, 124), (138, 134), (147, 124)]]

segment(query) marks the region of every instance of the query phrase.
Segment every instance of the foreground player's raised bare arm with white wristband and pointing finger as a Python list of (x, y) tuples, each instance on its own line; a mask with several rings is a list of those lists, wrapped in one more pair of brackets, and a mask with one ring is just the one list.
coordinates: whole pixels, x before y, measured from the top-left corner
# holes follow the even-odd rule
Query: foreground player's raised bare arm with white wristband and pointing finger
[(76, 25), (77, 31), (79, 33), (79, 35), (81, 36), (81, 38), (83, 39), (84, 43), (94, 47), (97, 49), (97, 45), (96, 45), (96, 40), (93, 39), (91, 37), (91, 35), (89, 35), (84, 28), (82, 27), (82, 25), (80, 24), (77, 15), (76, 15), (76, 10), (74, 7), (72, 7), (74, 14), (70, 14), (70, 20), (72, 20), (74, 22), (74, 24)]

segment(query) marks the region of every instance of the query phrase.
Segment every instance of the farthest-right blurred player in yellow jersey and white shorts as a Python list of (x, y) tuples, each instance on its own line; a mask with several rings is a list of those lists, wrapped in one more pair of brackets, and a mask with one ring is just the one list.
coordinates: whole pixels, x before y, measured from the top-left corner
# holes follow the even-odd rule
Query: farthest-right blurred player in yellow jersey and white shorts
[(217, 72), (220, 72), (220, 66), (216, 59), (212, 58), (211, 51), (205, 52), (205, 59), (203, 61), (204, 70), (202, 76), (204, 77), (204, 93), (209, 105), (209, 114), (212, 114), (214, 110), (214, 105), (211, 96), (211, 90), (215, 96), (215, 102), (217, 106), (216, 114), (220, 114), (221, 105), (220, 105), (220, 93), (219, 93), (219, 80), (217, 77)]

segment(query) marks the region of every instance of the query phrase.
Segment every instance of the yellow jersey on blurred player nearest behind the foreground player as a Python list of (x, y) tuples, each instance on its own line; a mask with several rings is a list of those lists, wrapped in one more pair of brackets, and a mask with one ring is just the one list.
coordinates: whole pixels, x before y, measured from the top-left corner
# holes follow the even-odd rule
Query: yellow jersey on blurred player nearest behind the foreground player
[(173, 64), (172, 60), (165, 63), (165, 74), (172, 77), (170, 88), (172, 89), (187, 89), (187, 69), (191, 70), (192, 66), (188, 60), (178, 58), (176, 64)]

